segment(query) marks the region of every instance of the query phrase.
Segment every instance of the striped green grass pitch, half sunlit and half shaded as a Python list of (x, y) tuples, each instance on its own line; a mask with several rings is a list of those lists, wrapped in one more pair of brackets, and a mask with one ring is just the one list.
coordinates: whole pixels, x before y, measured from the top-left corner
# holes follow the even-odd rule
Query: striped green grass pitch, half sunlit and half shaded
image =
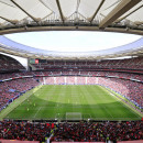
[(96, 85), (44, 85), (12, 102), (6, 119), (141, 120), (142, 116)]

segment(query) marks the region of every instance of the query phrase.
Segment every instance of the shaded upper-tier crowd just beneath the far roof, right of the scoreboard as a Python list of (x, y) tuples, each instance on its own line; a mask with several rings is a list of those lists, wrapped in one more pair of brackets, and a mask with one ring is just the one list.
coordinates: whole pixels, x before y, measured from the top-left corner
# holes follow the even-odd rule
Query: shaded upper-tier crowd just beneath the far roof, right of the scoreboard
[(105, 59), (105, 61), (45, 61), (32, 64), (36, 69), (48, 69), (59, 67), (70, 68), (109, 68), (109, 69), (143, 69), (143, 57), (129, 59)]

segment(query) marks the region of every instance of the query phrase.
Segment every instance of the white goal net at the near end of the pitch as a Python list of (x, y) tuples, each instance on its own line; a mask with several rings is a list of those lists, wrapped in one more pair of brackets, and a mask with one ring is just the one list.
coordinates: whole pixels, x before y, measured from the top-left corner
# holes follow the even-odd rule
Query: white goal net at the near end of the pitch
[(66, 112), (66, 120), (82, 120), (81, 112)]

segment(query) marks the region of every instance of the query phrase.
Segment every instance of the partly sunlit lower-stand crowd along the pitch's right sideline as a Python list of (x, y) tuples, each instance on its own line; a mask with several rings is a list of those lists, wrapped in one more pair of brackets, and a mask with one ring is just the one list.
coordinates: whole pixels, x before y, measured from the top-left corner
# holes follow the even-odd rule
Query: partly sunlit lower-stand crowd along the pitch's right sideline
[(134, 105), (143, 107), (142, 82), (107, 77), (99, 77), (98, 82), (121, 94), (122, 96), (131, 100)]

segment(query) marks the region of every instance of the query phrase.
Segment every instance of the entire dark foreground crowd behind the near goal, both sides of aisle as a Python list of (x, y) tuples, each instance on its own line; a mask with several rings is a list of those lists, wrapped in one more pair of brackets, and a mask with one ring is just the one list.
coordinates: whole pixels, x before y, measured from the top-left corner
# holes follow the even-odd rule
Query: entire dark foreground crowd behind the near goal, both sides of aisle
[(106, 142), (143, 140), (143, 121), (47, 123), (0, 121), (0, 139), (45, 142)]

